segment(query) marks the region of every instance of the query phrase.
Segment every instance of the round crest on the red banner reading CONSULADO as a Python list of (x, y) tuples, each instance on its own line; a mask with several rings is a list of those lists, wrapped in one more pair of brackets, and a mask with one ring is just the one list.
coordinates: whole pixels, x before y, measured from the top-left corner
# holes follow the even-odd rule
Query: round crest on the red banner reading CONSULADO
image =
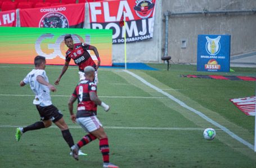
[(69, 21), (62, 13), (50, 12), (41, 18), (39, 27), (69, 28)]

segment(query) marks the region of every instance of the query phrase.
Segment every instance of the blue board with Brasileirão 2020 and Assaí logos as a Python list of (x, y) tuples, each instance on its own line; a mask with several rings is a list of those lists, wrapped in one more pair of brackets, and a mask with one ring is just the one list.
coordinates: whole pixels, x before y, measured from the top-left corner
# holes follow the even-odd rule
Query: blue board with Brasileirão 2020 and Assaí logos
[(230, 35), (198, 35), (197, 71), (230, 72)]

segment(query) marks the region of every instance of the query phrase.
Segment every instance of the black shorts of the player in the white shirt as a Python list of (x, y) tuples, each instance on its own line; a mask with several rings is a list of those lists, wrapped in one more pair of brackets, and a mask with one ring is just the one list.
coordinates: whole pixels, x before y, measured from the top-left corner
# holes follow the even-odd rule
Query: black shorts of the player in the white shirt
[(61, 111), (57, 109), (55, 106), (50, 105), (46, 107), (37, 106), (37, 110), (40, 114), (41, 120), (52, 120), (53, 123), (59, 121), (62, 118)]

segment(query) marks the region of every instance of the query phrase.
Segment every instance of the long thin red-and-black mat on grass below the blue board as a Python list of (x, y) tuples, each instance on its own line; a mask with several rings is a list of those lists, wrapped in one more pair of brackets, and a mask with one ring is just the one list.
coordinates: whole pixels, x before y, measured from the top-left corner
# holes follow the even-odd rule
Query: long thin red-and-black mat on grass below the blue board
[(206, 78), (214, 80), (231, 80), (231, 81), (256, 81), (256, 77), (250, 76), (222, 76), (222, 75), (201, 75), (201, 74), (187, 74), (181, 75), (181, 77), (190, 77), (190, 78)]

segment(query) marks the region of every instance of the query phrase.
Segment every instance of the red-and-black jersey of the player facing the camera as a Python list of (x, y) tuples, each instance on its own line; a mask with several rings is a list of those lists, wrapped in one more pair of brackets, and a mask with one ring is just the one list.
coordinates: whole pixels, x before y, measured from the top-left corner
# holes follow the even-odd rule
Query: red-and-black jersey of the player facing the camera
[(66, 52), (66, 61), (74, 60), (75, 64), (78, 65), (79, 71), (84, 71), (87, 66), (92, 66), (96, 68), (96, 64), (93, 61), (91, 55), (87, 52), (90, 49), (90, 45), (86, 43), (76, 43), (74, 44), (74, 49), (68, 49)]

